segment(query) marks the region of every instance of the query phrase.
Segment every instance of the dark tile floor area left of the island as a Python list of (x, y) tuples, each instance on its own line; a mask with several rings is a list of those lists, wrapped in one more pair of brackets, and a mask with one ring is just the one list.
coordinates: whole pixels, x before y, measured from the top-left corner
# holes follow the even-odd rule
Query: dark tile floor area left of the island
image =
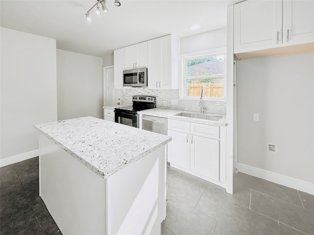
[(61, 235), (39, 196), (38, 157), (0, 168), (0, 234)]

